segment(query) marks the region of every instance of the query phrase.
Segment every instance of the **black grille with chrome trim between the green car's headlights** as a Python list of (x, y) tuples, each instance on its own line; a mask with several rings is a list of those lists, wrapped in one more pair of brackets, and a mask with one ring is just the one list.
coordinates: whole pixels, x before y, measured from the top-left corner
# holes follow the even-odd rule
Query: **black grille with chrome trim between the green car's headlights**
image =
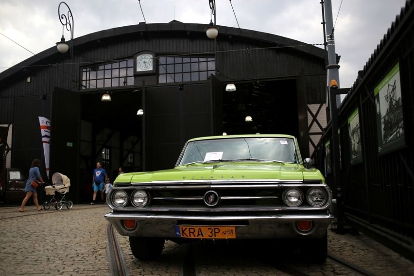
[[(146, 211), (182, 211), (208, 212), (214, 209), (216, 212), (234, 211), (275, 211), (298, 210), (301, 208), (324, 209), (329, 202), (321, 207), (310, 207), (306, 200), (301, 207), (287, 207), (283, 204), (282, 193), (289, 187), (297, 187), (305, 195), (307, 190), (315, 186), (325, 186), (319, 183), (214, 183), (214, 184), (168, 184), (149, 185), (133, 184), (133, 186), (118, 186), (113, 189), (125, 190), (129, 195), (134, 190), (144, 190), (149, 194), (150, 203), (146, 207), (138, 208)], [(206, 203), (206, 194), (213, 192), (218, 196), (218, 202), (214, 206)], [(135, 209), (132, 205), (126, 209)], [(123, 208), (125, 210), (125, 208)]]

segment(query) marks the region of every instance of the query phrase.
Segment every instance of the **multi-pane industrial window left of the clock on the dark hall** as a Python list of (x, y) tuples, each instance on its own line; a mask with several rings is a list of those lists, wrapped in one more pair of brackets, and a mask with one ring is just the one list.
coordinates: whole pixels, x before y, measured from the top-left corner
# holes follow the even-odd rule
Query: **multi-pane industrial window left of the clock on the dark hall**
[(134, 85), (134, 60), (121, 60), (82, 69), (82, 89)]

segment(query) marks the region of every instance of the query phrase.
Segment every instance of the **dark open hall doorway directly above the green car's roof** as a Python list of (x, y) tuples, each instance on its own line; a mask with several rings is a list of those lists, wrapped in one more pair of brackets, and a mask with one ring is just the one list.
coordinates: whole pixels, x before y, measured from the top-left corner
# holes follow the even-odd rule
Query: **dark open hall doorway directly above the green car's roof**
[[(223, 92), (223, 131), (231, 134), (290, 134), (298, 137), (295, 80), (236, 84)], [(250, 116), (246, 120), (246, 117)]]

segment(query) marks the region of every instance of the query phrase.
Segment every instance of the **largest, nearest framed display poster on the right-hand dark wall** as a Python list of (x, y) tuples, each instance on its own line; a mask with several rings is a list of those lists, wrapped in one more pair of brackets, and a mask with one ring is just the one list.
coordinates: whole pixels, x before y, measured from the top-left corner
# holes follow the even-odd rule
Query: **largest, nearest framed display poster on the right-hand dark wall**
[(378, 153), (384, 154), (404, 146), (398, 63), (374, 88), (374, 97), (377, 106)]

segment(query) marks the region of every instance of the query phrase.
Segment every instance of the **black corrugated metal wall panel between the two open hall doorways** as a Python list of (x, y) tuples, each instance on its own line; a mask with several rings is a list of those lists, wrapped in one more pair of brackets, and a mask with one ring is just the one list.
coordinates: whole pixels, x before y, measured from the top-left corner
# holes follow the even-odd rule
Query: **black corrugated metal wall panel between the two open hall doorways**
[(188, 139), (213, 135), (209, 83), (149, 88), (145, 97), (147, 170), (172, 168)]

